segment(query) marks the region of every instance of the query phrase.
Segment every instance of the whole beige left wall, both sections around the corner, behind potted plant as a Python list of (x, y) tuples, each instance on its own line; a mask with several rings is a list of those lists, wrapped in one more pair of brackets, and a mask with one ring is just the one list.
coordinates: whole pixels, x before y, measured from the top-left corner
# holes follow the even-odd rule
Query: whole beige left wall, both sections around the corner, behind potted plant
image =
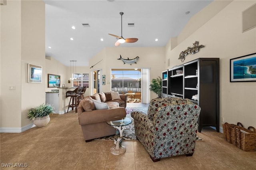
[[(45, 71), (45, 8), (42, 1), (8, 1), (1, 9), (1, 131), (30, 125), (26, 112), (45, 102), (42, 83), (27, 83), (27, 64)], [(43, 40), (43, 41), (42, 41)], [(14, 85), (15, 90), (9, 90)], [(25, 127), (26, 128), (26, 127)]]

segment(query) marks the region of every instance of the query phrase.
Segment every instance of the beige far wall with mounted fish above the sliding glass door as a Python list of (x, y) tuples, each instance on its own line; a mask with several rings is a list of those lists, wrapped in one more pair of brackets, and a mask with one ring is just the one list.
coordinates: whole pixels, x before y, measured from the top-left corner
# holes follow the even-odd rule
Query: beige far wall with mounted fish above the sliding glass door
[[(164, 68), (165, 52), (164, 47), (106, 47), (90, 60), (90, 65), (94, 65), (101, 59), (100, 63), (93, 69), (102, 69), (102, 75), (106, 75), (106, 85), (102, 86), (102, 91), (110, 91), (110, 77), (112, 68), (150, 68), (150, 79), (162, 75)], [(133, 59), (139, 56), (137, 64), (124, 64), (120, 58)], [(150, 98), (158, 97), (155, 93), (150, 93)]]

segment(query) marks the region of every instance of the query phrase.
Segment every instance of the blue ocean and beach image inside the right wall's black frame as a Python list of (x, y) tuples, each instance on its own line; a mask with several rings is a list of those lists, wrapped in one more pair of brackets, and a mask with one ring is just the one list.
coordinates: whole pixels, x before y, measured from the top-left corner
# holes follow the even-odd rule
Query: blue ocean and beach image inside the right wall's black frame
[(233, 79), (256, 78), (256, 56), (233, 63)]

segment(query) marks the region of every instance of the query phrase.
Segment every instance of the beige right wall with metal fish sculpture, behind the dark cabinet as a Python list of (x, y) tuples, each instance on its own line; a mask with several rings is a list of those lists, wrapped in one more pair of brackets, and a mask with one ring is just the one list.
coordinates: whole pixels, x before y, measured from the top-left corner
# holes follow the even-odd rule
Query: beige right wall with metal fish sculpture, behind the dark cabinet
[[(242, 33), (242, 11), (254, 3), (233, 1), (174, 49), (170, 50), (170, 42), (166, 45), (166, 61), (170, 59), (170, 67), (182, 64), (178, 60), (180, 52), (192, 47), (195, 41), (205, 47), (196, 54), (187, 55), (185, 63), (199, 57), (220, 58), (220, 117), (224, 117), (224, 122), (241, 122), (245, 127), (256, 127), (256, 82), (230, 83), (229, 62), (232, 58), (256, 52), (256, 28)], [(211, 4), (207, 8), (211, 8)], [(207, 11), (198, 14), (203, 15), (207, 15)], [(189, 28), (187, 25), (186, 29)]]

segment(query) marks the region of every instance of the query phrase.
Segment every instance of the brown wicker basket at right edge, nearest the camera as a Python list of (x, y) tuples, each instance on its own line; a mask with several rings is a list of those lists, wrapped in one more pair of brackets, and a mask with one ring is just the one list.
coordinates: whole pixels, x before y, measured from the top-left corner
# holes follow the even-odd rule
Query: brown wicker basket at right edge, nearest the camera
[[(255, 151), (256, 150), (256, 129), (254, 127), (236, 126), (236, 146), (244, 151)], [(249, 129), (253, 129), (251, 131)]]

